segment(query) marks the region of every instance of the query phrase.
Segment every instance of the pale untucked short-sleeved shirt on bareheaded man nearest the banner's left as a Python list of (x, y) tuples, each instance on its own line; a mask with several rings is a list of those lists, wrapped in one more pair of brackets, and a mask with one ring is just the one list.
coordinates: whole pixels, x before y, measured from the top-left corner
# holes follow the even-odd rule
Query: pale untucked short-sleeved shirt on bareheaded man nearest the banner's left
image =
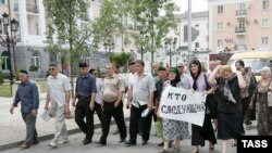
[(154, 79), (151, 75), (143, 74), (138, 76), (135, 74), (134, 81), (131, 84), (133, 102), (132, 104), (136, 107), (139, 105), (146, 105), (150, 92), (156, 91)]

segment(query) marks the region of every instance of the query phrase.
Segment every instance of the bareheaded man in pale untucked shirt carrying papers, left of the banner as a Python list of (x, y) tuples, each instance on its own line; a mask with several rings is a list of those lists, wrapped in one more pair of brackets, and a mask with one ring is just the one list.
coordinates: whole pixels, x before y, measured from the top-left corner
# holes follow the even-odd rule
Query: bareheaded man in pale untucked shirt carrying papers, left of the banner
[(135, 62), (135, 79), (128, 87), (128, 98), (126, 107), (131, 107), (129, 119), (129, 141), (128, 146), (136, 145), (138, 120), (143, 122), (143, 145), (147, 144), (151, 128), (151, 113), (141, 116), (144, 110), (153, 109), (153, 92), (156, 91), (152, 76), (144, 74), (145, 63), (141, 60)]

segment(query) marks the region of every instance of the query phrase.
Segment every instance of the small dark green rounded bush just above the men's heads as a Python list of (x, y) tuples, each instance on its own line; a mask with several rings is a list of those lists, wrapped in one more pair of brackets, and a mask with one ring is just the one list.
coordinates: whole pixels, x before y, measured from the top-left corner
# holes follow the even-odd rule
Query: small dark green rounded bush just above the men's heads
[(131, 58), (131, 53), (126, 53), (126, 52), (110, 54), (109, 56), (110, 62), (119, 65), (120, 67), (124, 66), (127, 63), (129, 58)]

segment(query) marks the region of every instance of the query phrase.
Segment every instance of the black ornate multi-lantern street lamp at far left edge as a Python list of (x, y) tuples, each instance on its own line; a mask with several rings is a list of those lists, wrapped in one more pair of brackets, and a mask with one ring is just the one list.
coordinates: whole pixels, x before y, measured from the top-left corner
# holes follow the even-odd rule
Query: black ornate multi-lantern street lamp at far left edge
[[(3, 25), (3, 29), (2, 29), (2, 25)], [(14, 33), (14, 35), (11, 35), (11, 36), (14, 36), (14, 37), (10, 37), (9, 29), (8, 29), (9, 25), (11, 26), (11, 33)], [(10, 48), (14, 47), (16, 44), (16, 35), (15, 35), (15, 33), (17, 31), (17, 25), (18, 25), (18, 22), (16, 20), (13, 18), (12, 21), (10, 21), (9, 14), (7, 14), (7, 13), (2, 14), (2, 20), (0, 18), (0, 34), (2, 34), (2, 31), (3, 31), (3, 36), (0, 36), (0, 44), (2, 47), (7, 47), (7, 49), (8, 49), (11, 86), (13, 85), (13, 73), (12, 73), (11, 50), (10, 50)]]

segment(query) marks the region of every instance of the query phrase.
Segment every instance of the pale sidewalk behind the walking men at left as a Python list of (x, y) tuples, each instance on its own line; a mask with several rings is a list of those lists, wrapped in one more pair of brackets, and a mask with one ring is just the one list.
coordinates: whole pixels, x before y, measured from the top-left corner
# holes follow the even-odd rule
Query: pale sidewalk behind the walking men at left
[[(21, 143), (22, 140), (25, 138), (25, 124), (21, 116), (21, 106), (15, 107), (14, 114), (10, 114), (10, 107), (13, 102), (12, 98), (0, 98), (0, 151), (5, 149), (11, 149)], [(40, 106), (38, 110), (38, 117), (37, 117), (37, 131), (38, 136), (41, 137), (44, 140), (49, 139), (52, 137), (54, 132), (54, 119), (50, 119), (48, 123), (42, 120), (39, 116), (44, 112), (44, 106), (46, 103), (46, 93), (40, 94)], [(71, 106), (72, 109), (72, 106)], [(128, 110), (124, 112), (125, 117), (128, 116)], [(100, 124), (97, 115), (95, 115), (95, 124)], [(66, 127), (72, 133), (78, 132), (78, 126), (76, 125), (74, 118), (66, 119)], [(48, 137), (49, 136), (49, 137)]]

